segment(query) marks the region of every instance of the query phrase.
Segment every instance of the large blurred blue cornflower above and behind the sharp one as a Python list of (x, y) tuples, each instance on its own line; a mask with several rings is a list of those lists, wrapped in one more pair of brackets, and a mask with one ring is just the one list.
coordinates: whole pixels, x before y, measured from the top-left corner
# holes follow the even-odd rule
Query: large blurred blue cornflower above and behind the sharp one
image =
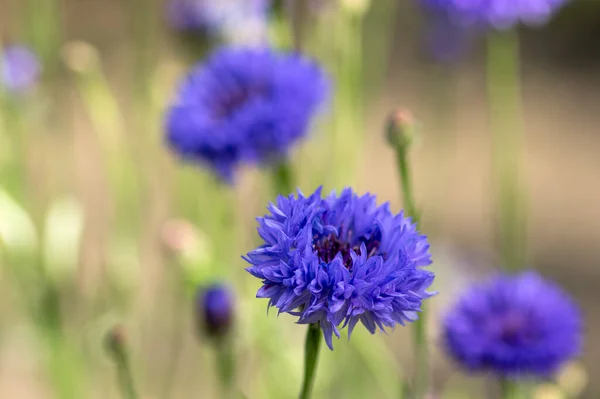
[(231, 181), (242, 164), (285, 157), (307, 133), (327, 91), (312, 61), (271, 49), (224, 48), (195, 67), (167, 115), (167, 140), (184, 159)]

